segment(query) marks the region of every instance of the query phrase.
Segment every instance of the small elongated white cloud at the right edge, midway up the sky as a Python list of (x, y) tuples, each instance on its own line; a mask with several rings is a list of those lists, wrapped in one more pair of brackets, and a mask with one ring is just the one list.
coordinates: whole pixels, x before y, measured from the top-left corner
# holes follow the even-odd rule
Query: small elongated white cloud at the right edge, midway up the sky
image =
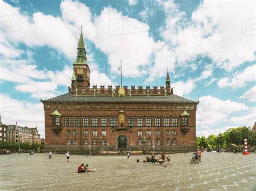
[(256, 65), (248, 66), (244, 71), (234, 74), (231, 79), (223, 77), (218, 81), (220, 88), (233, 87), (241, 88), (246, 85), (246, 82), (256, 81)]

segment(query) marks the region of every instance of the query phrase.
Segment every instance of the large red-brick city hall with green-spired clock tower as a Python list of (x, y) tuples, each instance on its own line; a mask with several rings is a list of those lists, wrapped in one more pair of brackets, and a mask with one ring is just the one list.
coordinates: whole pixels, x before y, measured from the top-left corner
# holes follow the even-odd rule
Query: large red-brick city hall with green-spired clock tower
[(196, 148), (199, 102), (175, 95), (167, 71), (165, 86), (92, 86), (81, 32), (69, 92), (41, 100), (45, 150), (181, 151)]

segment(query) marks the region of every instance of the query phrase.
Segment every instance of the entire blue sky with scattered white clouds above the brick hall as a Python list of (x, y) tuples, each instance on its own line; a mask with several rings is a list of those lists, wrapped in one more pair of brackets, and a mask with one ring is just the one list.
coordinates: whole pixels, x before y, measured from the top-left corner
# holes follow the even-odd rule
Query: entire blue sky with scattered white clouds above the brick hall
[(91, 84), (164, 86), (200, 103), (197, 135), (255, 121), (255, 2), (1, 1), (2, 122), (37, 126), (64, 94), (83, 25)]

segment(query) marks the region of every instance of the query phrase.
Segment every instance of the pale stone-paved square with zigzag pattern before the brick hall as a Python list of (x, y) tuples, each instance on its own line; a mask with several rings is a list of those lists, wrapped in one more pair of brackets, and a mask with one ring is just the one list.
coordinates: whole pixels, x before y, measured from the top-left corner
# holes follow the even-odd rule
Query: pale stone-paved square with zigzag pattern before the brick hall
[[(254, 154), (203, 152), (199, 164), (190, 163), (190, 153), (168, 155), (170, 165), (133, 154), (71, 154), (69, 163), (65, 154), (0, 155), (0, 190), (256, 190)], [(97, 171), (77, 173), (81, 163)]]

